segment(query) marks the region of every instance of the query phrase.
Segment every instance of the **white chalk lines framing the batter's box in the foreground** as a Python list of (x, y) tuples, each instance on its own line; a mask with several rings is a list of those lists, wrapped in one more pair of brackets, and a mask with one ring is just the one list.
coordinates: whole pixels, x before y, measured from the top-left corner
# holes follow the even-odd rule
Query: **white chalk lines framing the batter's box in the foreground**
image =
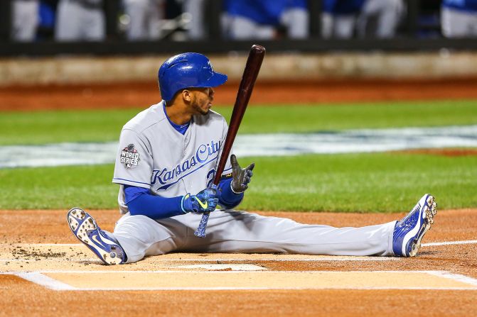
[[(461, 274), (453, 274), (446, 271), (319, 271), (326, 272), (326, 273), (333, 273), (333, 274), (341, 274), (341, 273), (355, 273), (355, 272), (386, 272), (386, 273), (426, 273), (431, 274), (438, 277), (444, 277), (446, 279), (453, 279), (456, 282), (461, 282), (465, 284), (469, 284), (475, 288), (468, 288), (468, 287), (117, 287), (117, 288), (77, 288), (73, 287), (70, 284), (66, 284), (56, 279), (50, 278), (43, 273), (123, 273), (124, 271), (40, 271), (40, 272), (16, 272), (16, 273), (6, 273), (0, 272), (1, 274), (14, 274), (18, 277), (26, 279), (30, 282), (39, 284), (43, 287), (48, 289), (52, 289), (55, 291), (221, 291), (221, 290), (273, 290), (273, 289), (288, 289), (288, 290), (300, 290), (300, 289), (350, 289), (350, 290), (380, 290), (380, 289), (398, 289), (398, 290), (405, 290), (405, 289), (413, 289), (413, 290), (440, 290), (440, 291), (447, 291), (447, 290), (454, 290), (454, 291), (476, 291), (477, 290), (477, 279), (473, 279), (471, 277), (466, 277), (465, 275)], [(135, 273), (170, 273), (173, 272), (181, 272), (184, 271), (142, 271), (142, 272), (135, 272)], [(267, 272), (267, 274), (274, 273), (274, 274), (284, 274), (284, 273), (297, 273), (297, 272), (306, 272), (309, 273), (310, 271), (272, 271)], [(127, 272), (132, 273), (132, 272)], [(263, 272), (256, 271), (256, 272), (245, 272), (245, 271), (220, 271), (220, 272), (193, 272), (194, 274), (262, 274)]]

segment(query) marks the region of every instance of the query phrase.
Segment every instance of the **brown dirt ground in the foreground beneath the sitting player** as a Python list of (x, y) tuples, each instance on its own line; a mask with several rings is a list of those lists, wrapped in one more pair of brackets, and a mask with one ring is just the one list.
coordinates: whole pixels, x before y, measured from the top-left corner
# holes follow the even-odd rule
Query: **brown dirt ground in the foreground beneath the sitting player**
[[(91, 213), (107, 230), (112, 230), (119, 217), (117, 211)], [(302, 223), (324, 223), (332, 226), (366, 226), (391, 221), (403, 215), (264, 214), (293, 218)], [(0, 211), (0, 230), (0, 271), (3, 272), (0, 274), (0, 315), (4, 316), (84, 316), (85, 313), (100, 313), (102, 316), (469, 316), (477, 308), (475, 209), (439, 211), (434, 227), (424, 238), (421, 255), (415, 258), (178, 253), (147, 257), (132, 265), (107, 267), (84, 246), (77, 244), (66, 224), (65, 211)], [(444, 242), (458, 244), (445, 245), (442, 244)], [(214, 269), (213, 265), (218, 264), (225, 265), (226, 268), (222, 266)], [(185, 268), (185, 265), (210, 265), (212, 271)], [(264, 270), (234, 273), (235, 269), (227, 268), (227, 265), (250, 265)], [(402, 278), (395, 280), (391, 275), (386, 275), (388, 271), (392, 271), (389, 272), (392, 276), (403, 274)], [(331, 272), (338, 274), (331, 275), (336, 277), (331, 280), (341, 280), (341, 288), (323, 284), (330, 278)], [(358, 276), (363, 273), (370, 275), (364, 280), (362, 277), (359, 279)], [(35, 274), (40, 274), (43, 279), (48, 278), (47, 282), (56, 281), (60, 286), (68, 283), (67, 285), (77, 288), (70, 291), (53, 290), (42, 286), (41, 282), (27, 280), (34, 279), (32, 277), (36, 277)], [(93, 277), (98, 277), (83, 279), (87, 281), (87, 285), (98, 287), (97, 289), (82, 290), (82, 283), (85, 282), (81, 282), (81, 279), (87, 277), (85, 274), (95, 274)], [(289, 278), (291, 274), (309, 274), (309, 277), (294, 279), (293, 282), (287, 282), (288, 288), (276, 289), (265, 287), (185, 290), (166, 287), (163, 290), (147, 291), (120, 288), (114, 290), (114, 285), (124, 287), (123, 281), (128, 285), (137, 284), (141, 274), (149, 274), (144, 275), (149, 284), (154, 281), (157, 282), (153, 284), (179, 283), (181, 274), (206, 277), (208, 283), (213, 282), (213, 277), (218, 277), (219, 284), (225, 282), (224, 277), (228, 280), (237, 274), (242, 277), (236, 283), (240, 285), (247, 285), (247, 279), (253, 284), (279, 285), (277, 283)], [(160, 277), (160, 274), (165, 274), (164, 278), (153, 279)], [(272, 280), (267, 279), (267, 274), (271, 274)], [(416, 278), (412, 274), (417, 274)], [(432, 279), (429, 274), (432, 274)], [(452, 276), (458, 278), (439, 279), (442, 274), (454, 274)], [(190, 280), (190, 277), (188, 278)], [(314, 279), (316, 283), (313, 282)], [(475, 285), (472, 284), (474, 282)], [(434, 285), (432, 283), (440, 283), (441, 287), (429, 287)], [(320, 287), (321, 284), (324, 286)], [(467, 290), (461, 287), (463, 284), (467, 285)], [(308, 286), (300, 289), (300, 285)], [(380, 285), (380, 288), (373, 288), (373, 285)], [(428, 289), (415, 289), (416, 285)]]

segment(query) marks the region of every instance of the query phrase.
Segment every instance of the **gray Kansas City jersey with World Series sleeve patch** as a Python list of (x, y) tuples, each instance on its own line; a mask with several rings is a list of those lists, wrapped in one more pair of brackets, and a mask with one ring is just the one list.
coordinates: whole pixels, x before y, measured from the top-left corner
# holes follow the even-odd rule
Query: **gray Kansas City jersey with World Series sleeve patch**
[[(150, 189), (166, 198), (195, 195), (212, 184), (226, 135), (227, 122), (215, 111), (193, 116), (182, 135), (171, 126), (161, 101), (124, 125), (112, 182)], [(223, 174), (231, 169), (229, 157)], [(127, 213), (123, 186), (118, 202)]]

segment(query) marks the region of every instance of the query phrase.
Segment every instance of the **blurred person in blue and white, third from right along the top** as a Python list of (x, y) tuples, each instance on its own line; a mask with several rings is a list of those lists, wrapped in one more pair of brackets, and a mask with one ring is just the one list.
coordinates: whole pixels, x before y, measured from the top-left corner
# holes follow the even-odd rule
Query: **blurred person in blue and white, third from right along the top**
[(323, 38), (352, 38), (364, 1), (323, 0), (321, 36)]

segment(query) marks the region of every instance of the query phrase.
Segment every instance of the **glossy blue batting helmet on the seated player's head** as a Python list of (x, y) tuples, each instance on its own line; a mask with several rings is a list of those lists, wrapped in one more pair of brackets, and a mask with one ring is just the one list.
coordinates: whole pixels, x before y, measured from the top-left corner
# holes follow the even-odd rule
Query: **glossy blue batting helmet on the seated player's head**
[(227, 75), (214, 72), (210, 60), (202, 54), (186, 52), (166, 60), (159, 68), (162, 99), (169, 101), (177, 91), (192, 87), (217, 87)]

